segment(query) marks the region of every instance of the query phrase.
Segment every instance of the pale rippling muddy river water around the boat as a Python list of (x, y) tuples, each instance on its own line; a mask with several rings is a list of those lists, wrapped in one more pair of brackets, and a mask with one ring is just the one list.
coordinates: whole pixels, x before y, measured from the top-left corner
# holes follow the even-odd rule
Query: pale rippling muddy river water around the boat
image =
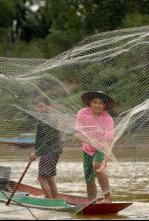
[[(11, 161), (0, 159), (0, 166), (10, 166), (11, 179), (18, 180), (27, 165), (27, 161)], [(38, 161), (34, 162), (26, 174), (23, 183), (39, 187), (37, 181)], [(86, 185), (84, 182), (82, 162), (74, 159), (60, 160), (58, 164), (57, 184), (59, 192), (73, 195), (86, 196)], [(127, 183), (138, 171), (143, 170), (131, 182)], [(133, 202), (134, 204), (121, 211), (117, 215), (104, 215), (98, 217), (80, 216), (76, 220), (149, 220), (149, 163), (125, 163), (122, 166), (109, 163), (107, 175), (110, 180), (113, 201)], [(100, 193), (100, 188), (99, 188)], [(100, 196), (100, 195), (99, 195)], [(66, 220), (72, 217), (68, 214), (54, 213), (32, 209), (39, 220)], [(10, 205), (6, 207), (0, 203), (0, 220), (30, 220), (33, 219), (26, 208)]]

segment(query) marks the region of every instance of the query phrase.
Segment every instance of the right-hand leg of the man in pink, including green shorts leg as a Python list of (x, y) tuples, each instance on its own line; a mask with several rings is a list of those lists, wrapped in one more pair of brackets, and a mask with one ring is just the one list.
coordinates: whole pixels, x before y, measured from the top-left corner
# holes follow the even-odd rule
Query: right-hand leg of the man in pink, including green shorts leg
[(111, 202), (111, 194), (110, 194), (110, 186), (109, 180), (105, 173), (97, 172), (96, 170), (100, 169), (101, 164), (104, 160), (104, 154), (101, 152), (97, 152), (94, 156), (93, 169), (98, 178), (98, 182), (101, 186), (101, 189), (104, 194), (104, 202)]

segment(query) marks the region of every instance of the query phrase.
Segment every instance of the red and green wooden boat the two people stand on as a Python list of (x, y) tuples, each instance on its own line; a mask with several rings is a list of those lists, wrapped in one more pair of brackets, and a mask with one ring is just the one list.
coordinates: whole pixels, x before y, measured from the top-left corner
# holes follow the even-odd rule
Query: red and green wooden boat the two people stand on
[[(14, 181), (9, 181), (9, 189), (13, 190), (17, 185)], [(10, 197), (10, 192), (0, 192), (0, 201), (6, 202)], [(89, 204), (88, 198), (81, 196), (72, 196), (67, 194), (58, 194), (57, 200), (43, 199), (44, 193), (41, 189), (20, 184), (18, 192), (13, 197), (12, 203), (19, 206), (28, 206), (30, 208), (53, 210), (67, 213), (77, 213), (81, 211), (84, 215), (102, 215), (118, 213), (129, 207), (132, 203), (100, 203), (98, 199), (96, 204)]]

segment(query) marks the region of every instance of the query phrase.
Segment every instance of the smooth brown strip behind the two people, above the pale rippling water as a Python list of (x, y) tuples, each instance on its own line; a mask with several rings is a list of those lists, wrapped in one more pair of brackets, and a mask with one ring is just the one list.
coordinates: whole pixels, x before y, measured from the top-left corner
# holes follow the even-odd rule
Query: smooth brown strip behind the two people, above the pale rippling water
[[(61, 160), (82, 160), (82, 143), (78, 140), (67, 140), (62, 142), (63, 154)], [(35, 151), (34, 146), (21, 148), (13, 145), (0, 145), (0, 159), (14, 161), (28, 161), (31, 153)], [(124, 162), (148, 162), (149, 144), (136, 143), (128, 139), (120, 139), (113, 148), (113, 154), (118, 161)]]

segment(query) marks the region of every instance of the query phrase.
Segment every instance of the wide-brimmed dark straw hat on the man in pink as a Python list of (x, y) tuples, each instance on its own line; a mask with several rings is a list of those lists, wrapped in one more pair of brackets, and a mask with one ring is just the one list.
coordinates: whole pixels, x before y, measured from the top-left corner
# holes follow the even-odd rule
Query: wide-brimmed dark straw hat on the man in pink
[(111, 110), (116, 106), (115, 100), (108, 94), (103, 93), (102, 91), (86, 92), (81, 96), (81, 99), (86, 106), (90, 106), (90, 102), (97, 97), (104, 101), (105, 110)]

